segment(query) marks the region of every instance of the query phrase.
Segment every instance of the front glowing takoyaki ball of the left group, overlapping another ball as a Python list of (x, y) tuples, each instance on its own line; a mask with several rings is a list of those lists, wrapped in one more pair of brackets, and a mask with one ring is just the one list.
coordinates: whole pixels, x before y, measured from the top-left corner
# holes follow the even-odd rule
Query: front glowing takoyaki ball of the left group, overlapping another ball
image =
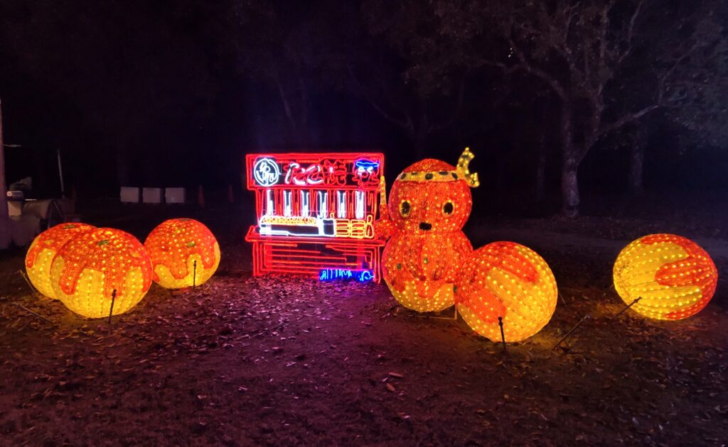
[(76, 235), (50, 267), (53, 291), (68, 309), (88, 318), (134, 307), (151, 286), (151, 261), (141, 242), (122, 230), (97, 228)]

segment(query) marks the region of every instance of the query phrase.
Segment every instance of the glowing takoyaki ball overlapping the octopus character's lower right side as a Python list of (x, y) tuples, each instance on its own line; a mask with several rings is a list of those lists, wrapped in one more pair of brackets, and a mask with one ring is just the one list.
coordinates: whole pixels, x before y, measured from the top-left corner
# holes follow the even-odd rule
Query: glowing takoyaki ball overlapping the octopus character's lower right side
[(515, 242), (494, 242), (472, 252), (455, 283), (455, 305), (478, 334), (506, 342), (540, 331), (556, 309), (556, 280), (546, 261)]

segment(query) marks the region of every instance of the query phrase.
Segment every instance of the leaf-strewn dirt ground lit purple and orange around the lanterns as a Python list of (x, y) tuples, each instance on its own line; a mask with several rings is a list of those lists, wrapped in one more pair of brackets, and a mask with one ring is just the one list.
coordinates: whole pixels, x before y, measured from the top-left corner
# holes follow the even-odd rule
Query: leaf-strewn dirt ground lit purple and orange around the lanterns
[[(142, 240), (170, 215), (221, 241), (197, 289), (156, 284), (130, 313), (89, 321), (33, 297), (0, 255), (0, 444), (723, 445), (728, 439), (728, 240), (683, 228), (719, 266), (686, 321), (627, 311), (614, 258), (654, 222), (488, 220), (475, 246), (513, 240), (549, 262), (561, 299), (526, 342), (502, 346), (451, 313), (397, 305), (384, 284), (253, 278), (246, 209), (90, 214)], [(144, 214), (144, 219), (125, 215)], [(679, 222), (678, 222), (679, 223)], [(676, 223), (675, 225), (678, 225)], [(666, 228), (665, 230), (670, 230)], [(47, 318), (31, 315), (22, 305)], [(552, 350), (558, 339), (589, 318)]]

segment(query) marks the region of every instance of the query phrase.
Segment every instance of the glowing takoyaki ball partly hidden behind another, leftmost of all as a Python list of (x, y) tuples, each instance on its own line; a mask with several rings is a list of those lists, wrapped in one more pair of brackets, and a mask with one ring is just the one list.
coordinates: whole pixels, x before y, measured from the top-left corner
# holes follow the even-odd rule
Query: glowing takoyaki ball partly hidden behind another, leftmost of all
[(25, 271), (41, 294), (55, 299), (55, 292), (50, 285), (50, 265), (58, 249), (74, 236), (94, 228), (82, 223), (62, 223), (36, 236), (25, 254)]

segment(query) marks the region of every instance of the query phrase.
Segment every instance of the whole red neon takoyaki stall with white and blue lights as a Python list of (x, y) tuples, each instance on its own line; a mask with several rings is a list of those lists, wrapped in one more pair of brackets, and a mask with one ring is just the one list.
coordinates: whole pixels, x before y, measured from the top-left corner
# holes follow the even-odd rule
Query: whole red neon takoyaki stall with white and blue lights
[(381, 153), (279, 153), (245, 156), (247, 185), (256, 193), (258, 225), (253, 274), (294, 273), (379, 282), (374, 235)]

